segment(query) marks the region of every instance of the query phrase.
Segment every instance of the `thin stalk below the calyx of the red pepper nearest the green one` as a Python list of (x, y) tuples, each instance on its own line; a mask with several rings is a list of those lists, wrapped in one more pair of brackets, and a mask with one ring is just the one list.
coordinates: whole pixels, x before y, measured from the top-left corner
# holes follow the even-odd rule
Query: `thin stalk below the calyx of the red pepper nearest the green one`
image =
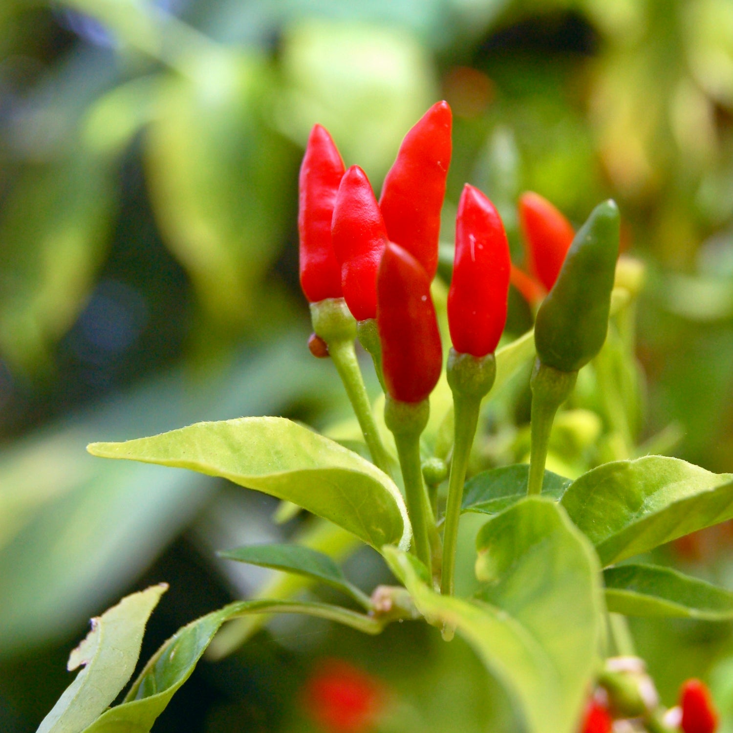
[(476, 426), (479, 424), (480, 408), (480, 397), (476, 399), (454, 395), (455, 439), (451, 460), (451, 475), (448, 483), (446, 523), (443, 529), (443, 574), (441, 576), (441, 593), (443, 595), (453, 595), (454, 591), (455, 556), (460, 507), (463, 501), (463, 483), (468, 468), (468, 459), (471, 456), (471, 447), (474, 445)]

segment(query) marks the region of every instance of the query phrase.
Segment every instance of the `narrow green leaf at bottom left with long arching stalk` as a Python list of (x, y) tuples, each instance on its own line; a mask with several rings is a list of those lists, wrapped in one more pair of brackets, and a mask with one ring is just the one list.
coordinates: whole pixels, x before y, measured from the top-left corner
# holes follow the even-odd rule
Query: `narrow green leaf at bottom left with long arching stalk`
[(246, 614), (308, 614), (364, 633), (380, 633), (383, 624), (369, 616), (325, 603), (276, 600), (240, 601), (213, 611), (180, 629), (155, 652), (125, 700), (84, 729), (84, 733), (148, 733), (174, 693), (191, 676), (221, 625)]

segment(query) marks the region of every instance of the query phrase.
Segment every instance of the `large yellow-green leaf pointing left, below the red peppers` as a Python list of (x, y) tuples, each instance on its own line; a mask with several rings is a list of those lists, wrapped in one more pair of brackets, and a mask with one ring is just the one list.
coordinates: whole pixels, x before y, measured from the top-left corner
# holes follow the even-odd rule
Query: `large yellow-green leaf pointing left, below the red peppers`
[(199, 422), (125, 443), (92, 443), (106, 458), (191, 468), (287, 499), (374, 548), (410, 541), (399, 490), (375, 465), (290, 420)]

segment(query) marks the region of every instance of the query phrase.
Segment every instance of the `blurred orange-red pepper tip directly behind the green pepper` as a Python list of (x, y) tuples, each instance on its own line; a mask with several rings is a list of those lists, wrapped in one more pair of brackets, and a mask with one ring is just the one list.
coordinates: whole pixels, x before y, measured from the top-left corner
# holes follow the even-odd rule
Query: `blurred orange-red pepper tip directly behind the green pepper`
[(528, 245), (529, 266), (537, 279), (552, 290), (572, 244), (572, 224), (550, 202), (527, 191), (519, 199), (519, 221)]

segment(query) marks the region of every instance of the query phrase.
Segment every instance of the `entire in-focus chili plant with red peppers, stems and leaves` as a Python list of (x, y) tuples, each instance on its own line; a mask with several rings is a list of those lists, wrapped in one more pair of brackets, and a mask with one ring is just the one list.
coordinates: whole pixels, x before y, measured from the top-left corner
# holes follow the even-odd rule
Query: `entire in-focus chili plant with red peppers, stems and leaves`
[[(575, 233), (549, 202), (523, 195), (525, 273), (510, 261), (496, 208), (466, 185), (443, 312), (432, 293), (450, 155), (451, 111), (441, 102), (405, 136), (377, 202), (364, 171), (346, 170), (328, 131), (315, 126), (298, 218), (309, 346), (336, 367), (364, 449), (279, 417), (90, 445), (100, 457), (221, 476), (280, 499), (285, 513), (299, 507), (317, 519), (291, 544), (225, 549), (224, 558), (280, 570), (287, 582), (183, 627), (114, 707), (165, 587), (128, 596), (95, 619), (70, 657), (70, 669), (84, 669), (40, 732), (150, 731), (207, 647), (224, 655), (257, 627), (235, 622), (217, 637), (226, 622), (272, 614), (310, 614), (367, 634), (409, 619), (436, 627), (446, 642), (463, 636), (506, 688), (518, 730), (608, 732), (616, 722), (652, 733), (715, 730), (699, 681), (685, 685), (679, 707), (663, 708), (626, 617), (733, 618), (733, 594), (634, 560), (732, 518), (733, 476), (658, 455), (612, 460), (575, 480), (545, 469), (556, 413), (587, 364), (601, 391), (633, 400), (623, 360), (633, 354), (636, 284), (628, 262), (617, 262), (618, 207), (601, 203)], [(537, 317), (532, 331), (501, 342), (510, 280), (538, 306)], [(443, 317), (452, 342), (444, 372)], [(604, 348), (609, 322), (625, 337), (619, 358)], [(375, 404), (357, 339), (385, 391)], [(533, 360), (530, 463), (471, 475), (487, 406)], [(485, 523), (476, 534), (477, 590), (464, 597), (454, 572), (467, 513)], [(345, 577), (339, 561), (360, 544), (380, 553), (393, 584), (367, 593)], [(301, 600), (298, 590), (314, 583), (341, 592), (342, 605)]]

